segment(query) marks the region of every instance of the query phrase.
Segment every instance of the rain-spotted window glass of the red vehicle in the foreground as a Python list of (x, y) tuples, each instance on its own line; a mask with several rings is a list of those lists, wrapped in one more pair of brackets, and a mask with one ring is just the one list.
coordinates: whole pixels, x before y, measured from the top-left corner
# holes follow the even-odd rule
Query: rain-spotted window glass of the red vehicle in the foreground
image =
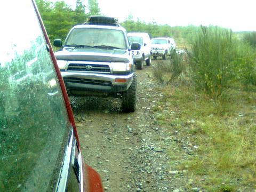
[(10, 3), (19, 17), (0, 12), (0, 191), (53, 191), (70, 129), (65, 103), (31, 1)]

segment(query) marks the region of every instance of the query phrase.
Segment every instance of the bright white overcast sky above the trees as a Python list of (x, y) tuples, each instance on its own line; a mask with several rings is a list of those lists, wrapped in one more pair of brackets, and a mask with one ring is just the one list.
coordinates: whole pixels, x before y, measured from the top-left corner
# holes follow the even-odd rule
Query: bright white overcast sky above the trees
[[(56, 1), (56, 0), (52, 0)], [(66, 0), (74, 5), (76, 0)], [(87, 5), (87, 0), (83, 0)], [(102, 14), (170, 26), (218, 25), (234, 31), (256, 31), (255, 0), (98, 0)]]

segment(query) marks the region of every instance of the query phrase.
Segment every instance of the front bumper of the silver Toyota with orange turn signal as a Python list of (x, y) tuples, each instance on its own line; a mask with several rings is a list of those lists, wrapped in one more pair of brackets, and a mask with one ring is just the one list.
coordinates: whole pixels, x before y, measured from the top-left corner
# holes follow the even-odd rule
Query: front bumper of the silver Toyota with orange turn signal
[[(61, 72), (67, 90), (91, 90), (100, 92), (126, 91), (133, 80), (133, 73), (129, 75), (93, 74)], [(126, 79), (125, 83), (117, 83), (115, 79)]]

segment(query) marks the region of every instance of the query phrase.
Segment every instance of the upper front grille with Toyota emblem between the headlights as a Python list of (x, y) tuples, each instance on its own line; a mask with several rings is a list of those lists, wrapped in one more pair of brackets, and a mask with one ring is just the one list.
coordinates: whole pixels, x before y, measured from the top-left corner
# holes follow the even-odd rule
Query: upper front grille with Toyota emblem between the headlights
[[(87, 66), (87, 68), (86, 68), (86, 66)], [(96, 65), (96, 64), (70, 63), (68, 65), (68, 70), (67, 71), (110, 74), (110, 68), (109, 68), (108, 65)]]

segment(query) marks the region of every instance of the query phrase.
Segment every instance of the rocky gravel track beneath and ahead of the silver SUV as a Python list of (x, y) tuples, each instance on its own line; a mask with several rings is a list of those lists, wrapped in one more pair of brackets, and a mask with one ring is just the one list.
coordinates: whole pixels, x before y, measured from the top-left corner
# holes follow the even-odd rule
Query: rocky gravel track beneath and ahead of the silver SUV
[[(179, 192), (193, 181), (186, 170), (172, 169), (178, 163), (172, 155), (186, 158), (193, 146), (173, 125), (157, 124), (153, 109), (163, 95), (152, 70), (137, 70), (135, 113), (122, 113), (119, 99), (71, 98), (84, 161), (100, 173), (106, 191)], [(199, 191), (193, 185), (189, 190)]]

